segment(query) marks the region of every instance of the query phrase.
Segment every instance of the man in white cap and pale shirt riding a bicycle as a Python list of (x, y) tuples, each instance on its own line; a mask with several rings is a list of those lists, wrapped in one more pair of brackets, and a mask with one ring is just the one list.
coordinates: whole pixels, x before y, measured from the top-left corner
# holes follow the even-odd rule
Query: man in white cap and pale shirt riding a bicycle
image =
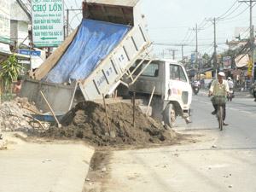
[[(224, 80), (225, 74), (223, 72), (218, 73), (218, 79), (215, 79), (212, 81), (210, 90), (209, 90), (209, 96), (227, 96), (230, 93), (229, 84), (226, 80)], [(218, 105), (214, 104), (212, 102), (214, 111), (212, 111), (212, 114), (216, 114), (218, 110)], [(224, 117), (226, 117), (226, 105), (224, 104)], [(223, 125), (228, 125), (224, 122)]]

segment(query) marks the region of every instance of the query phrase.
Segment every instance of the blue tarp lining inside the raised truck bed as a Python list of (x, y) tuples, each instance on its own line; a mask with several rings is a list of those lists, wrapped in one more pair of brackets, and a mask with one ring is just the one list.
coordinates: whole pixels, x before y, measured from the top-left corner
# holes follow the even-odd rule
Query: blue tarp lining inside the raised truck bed
[(82, 20), (72, 44), (44, 81), (61, 84), (86, 79), (130, 28), (100, 20)]

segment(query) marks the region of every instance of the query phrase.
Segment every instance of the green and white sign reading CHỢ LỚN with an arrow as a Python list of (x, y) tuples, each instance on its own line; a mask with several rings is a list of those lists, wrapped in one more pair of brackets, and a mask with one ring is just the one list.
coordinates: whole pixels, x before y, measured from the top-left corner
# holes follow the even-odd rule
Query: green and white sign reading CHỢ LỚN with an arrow
[(63, 0), (32, 0), (32, 38), (35, 47), (63, 42)]

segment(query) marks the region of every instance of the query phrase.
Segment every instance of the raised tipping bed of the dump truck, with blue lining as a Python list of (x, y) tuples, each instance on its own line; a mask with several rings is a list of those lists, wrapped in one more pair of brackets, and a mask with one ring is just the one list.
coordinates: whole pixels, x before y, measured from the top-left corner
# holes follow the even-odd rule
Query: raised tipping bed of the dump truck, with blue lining
[(133, 73), (138, 58), (147, 57), (150, 44), (139, 1), (84, 1), (81, 24), (24, 80), (21, 96), (48, 111), (42, 90), (56, 113), (73, 106), (78, 89), (85, 101), (102, 99)]

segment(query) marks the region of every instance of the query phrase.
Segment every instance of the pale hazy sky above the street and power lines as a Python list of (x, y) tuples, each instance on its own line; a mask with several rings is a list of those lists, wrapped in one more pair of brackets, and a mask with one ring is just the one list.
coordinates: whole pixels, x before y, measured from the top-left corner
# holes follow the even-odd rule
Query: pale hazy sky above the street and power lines
[[(81, 8), (82, 0), (65, 0), (66, 8)], [(218, 53), (227, 49), (226, 40), (231, 41), (241, 34), (249, 35), (249, 7), (238, 0), (141, 0), (142, 14), (148, 23), (149, 38), (154, 44), (154, 54), (170, 58), (171, 49), (177, 49), (176, 59), (181, 59), (181, 46), (184, 55), (195, 52), (195, 25), (198, 25), (198, 49), (201, 55), (213, 52), (212, 19), (217, 18), (216, 34)], [(79, 25), (81, 13), (74, 12), (71, 26)], [(253, 8), (253, 24), (256, 23), (256, 9)], [(239, 29), (240, 28), (240, 29)]]

